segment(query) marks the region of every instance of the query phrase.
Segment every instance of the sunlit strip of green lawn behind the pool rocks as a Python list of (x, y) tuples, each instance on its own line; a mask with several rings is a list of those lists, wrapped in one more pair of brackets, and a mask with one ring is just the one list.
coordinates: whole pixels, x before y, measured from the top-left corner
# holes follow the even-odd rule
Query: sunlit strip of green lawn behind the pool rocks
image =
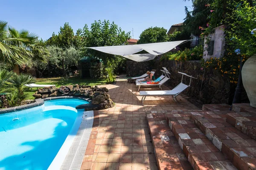
[[(105, 85), (106, 79), (105, 78), (95, 78), (95, 79), (81, 79), (78, 77), (53, 77), (53, 78), (44, 78), (44, 79), (36, 79), (36, 84), (38, 85), (55, 85), (57, 88), (59, 88), (61, 85)], [(32, 88), (32, 90), (27, 91), (29, 93), (29, 96), (27, 99), (35, 99), (32, 95), (35, 94), (35, 91), (37, 91), (37, 88)]]

